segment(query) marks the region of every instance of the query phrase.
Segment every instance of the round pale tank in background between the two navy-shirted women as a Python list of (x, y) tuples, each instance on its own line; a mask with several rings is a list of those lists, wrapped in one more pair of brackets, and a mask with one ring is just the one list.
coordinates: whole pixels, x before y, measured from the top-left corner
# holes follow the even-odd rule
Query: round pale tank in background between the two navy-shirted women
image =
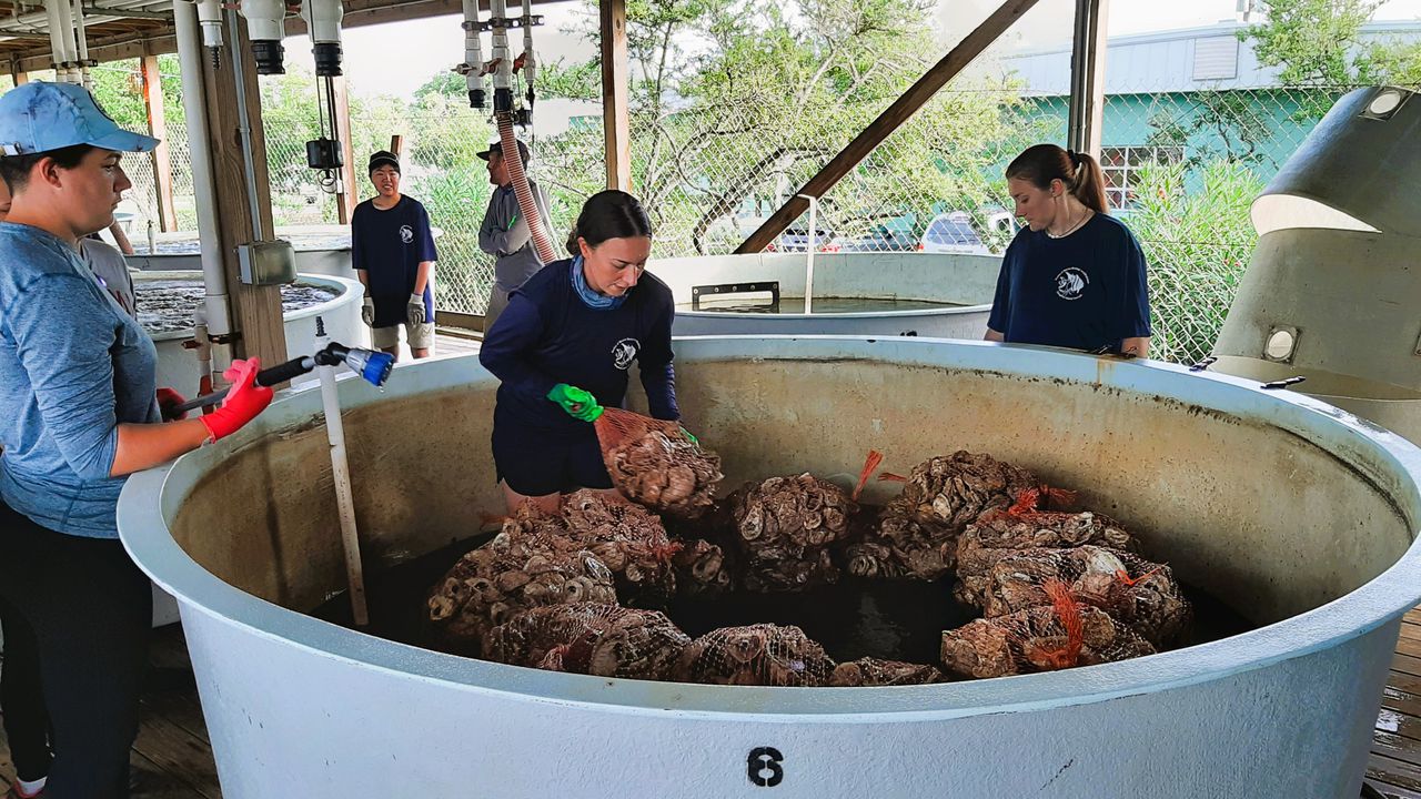
[[(803, 313), (807, 256), (760, 253), (657, 259), (648, 269), (676, 299), (676, 336), (806, 334), (982, 338), (1002, 269), (1000, 256), (939, 253), (816, 253), (813, 299), (938, 303), (914, 310)], [(693, 310), (698, 286), (779, 284), (782, 313)], [(796, 309), (800, 309), (796, 311)]]

